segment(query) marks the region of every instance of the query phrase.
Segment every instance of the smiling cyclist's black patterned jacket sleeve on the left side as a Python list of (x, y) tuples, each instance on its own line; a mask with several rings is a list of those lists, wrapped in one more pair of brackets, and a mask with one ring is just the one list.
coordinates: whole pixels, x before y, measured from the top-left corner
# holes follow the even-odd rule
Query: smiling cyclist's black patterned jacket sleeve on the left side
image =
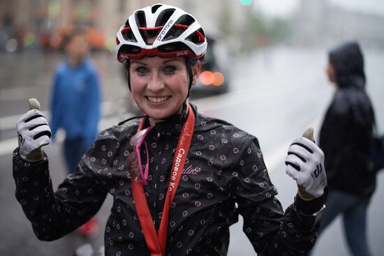
[(18, 148), (13, 152), (13, 177), (17, 201), (38, 239), (44, 241), (59, 239), (87, 222), (107, 195), (82, 162), (54, 192), (47, 156), (29, 163), (20, 157)]

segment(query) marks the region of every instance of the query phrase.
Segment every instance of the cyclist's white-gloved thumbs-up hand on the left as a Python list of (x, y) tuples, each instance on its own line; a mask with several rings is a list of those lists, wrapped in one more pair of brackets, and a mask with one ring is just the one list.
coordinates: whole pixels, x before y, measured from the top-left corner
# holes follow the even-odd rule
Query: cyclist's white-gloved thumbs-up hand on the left
[(16, 129), (20, 156), (28, 162), (41, 160), (41, 147), (50, 144), (52, 133), (36, 98), (29, 99), (29, 111), (17, 121)]

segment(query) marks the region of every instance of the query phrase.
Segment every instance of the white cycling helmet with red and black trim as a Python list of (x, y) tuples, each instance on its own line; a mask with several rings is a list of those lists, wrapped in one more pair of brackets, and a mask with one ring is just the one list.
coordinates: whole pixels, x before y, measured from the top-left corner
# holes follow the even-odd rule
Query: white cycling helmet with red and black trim
[(162, 3), (135, 10), (117, 32), (116, 43), (121, 63), (155, 55), (204, 59), (207, 50), (207, 38), (195, 17)]

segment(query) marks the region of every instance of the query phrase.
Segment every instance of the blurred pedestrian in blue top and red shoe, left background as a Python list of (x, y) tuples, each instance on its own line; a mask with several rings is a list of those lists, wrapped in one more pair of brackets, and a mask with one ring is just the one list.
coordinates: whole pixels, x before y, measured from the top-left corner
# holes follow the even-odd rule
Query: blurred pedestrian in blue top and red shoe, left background
[[(66, 60), (57, 66), (51, 97), (52, 140), (57, 130), (65, 132), (64, 160), (68, 174), (75, 172), (82, 155), (98, 133), (101, 86), (96, 67), (89, 59), (89, 45), (80, 30), (65, 38)], [(80, 227), (84, 235), (96, 233), (98, 223), (91, 219)]]

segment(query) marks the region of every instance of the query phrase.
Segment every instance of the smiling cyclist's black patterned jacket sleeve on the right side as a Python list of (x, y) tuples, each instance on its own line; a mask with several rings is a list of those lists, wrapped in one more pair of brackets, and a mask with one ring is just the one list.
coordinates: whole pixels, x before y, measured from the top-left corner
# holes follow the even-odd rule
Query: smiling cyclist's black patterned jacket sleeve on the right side
[(276, 188), (269, 179), (256, 138), (244, 144), (240, 158), (237, 161), (240, 165), (235, 167), (239, 174), (230, 181), (231, 193), (244, 218), (243, 230), (256, 253), (307, 255), (316, 241), (319, 227), (318, 219), (311, 213), (323, 206), (325, 197), (316, 200), (316, 204), (296, 197), (284, 213), (275, 197)]

